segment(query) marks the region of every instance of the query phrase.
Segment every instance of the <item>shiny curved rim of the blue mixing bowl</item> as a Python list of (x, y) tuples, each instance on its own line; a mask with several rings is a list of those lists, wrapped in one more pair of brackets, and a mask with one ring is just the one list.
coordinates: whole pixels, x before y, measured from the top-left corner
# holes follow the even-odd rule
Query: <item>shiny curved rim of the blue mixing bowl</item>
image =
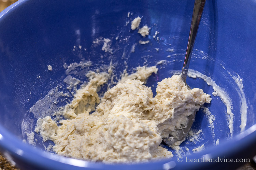
[[(24, 5), (26, 2), (32, 0), (19, 0), (14, 4), (8, 6), (0, 13), (0, 24), (1, 21), (11, 14), (11, 12)], [(216, 158), (216, 157), (232, 157), (237, 153), (242, 153), (244, 150), (250, 148), (251, 151), (256, 153), (255, 146), (256, 141), (256, 124), (246, 129), (244, 132), (234, 136), (233, 138), (222, 142), (218, 146), (212, 146), (203, 150), (202, 152), (195, 153), (193, 155), (187, 155), (186, 159), (197, 159), (202, 157)], [(236, 145), (233, 145), (236, 143)], [(85, 160), (78, 160), (68, 158), (56, 154), (47, 153), (34, 148), (22, 140), (18, 139), (2, 125), (0, 125), (0, 149), (2, 153), (11, 160), (22, 160), (24, 163), (28, 163), (35, 167), (47, 168), (47, 169), (169, 169), (170, 168), (182, 168), (182, 169), (196, 169), (199, 168), (202, 163), (189, 163), (181, 164), (177, 160), (161, 159), (154, 162), (136, 163), (136, 164), (103, 164), (93, 163)], [(252, 155), (252, 154), (251, 154)], [(254, 155), (252, 155), (254, 156)], [(183, 156), (184, 158), (184, 156)], [(210, 164), (208, 164), (211, 166)]]

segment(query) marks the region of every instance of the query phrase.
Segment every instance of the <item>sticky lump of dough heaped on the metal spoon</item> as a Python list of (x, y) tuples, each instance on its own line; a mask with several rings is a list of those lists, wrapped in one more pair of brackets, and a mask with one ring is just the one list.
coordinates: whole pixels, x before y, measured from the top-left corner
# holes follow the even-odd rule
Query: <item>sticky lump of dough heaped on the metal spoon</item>
[(186, 128), (187, 117), (198, 111), (204, 103), (211, 101), (210, 95), (205, 94), (202, 89), (189, 90), (182, 81), (181, 75), (173, 75), (158, 82), (156, 92), (155, 98), (159, 101), (163, 113), (171, 116), (158, 124), (162, 138), (168, 137), (169, 134), (176, 137), (176, 130)]

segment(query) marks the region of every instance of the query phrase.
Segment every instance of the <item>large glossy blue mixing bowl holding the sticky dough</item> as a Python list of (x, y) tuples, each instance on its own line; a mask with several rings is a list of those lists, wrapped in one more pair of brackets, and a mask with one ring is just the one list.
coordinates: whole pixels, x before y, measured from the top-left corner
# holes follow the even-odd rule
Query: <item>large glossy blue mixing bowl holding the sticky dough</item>
[[(125, 67), (132, 72), (137, 66), (157, 65), (158, 73), (146, 84), (155, 91), (157, 81), (182, 68), (193, 5), (193, 1), (186, 0), (19, 0), (2, 11), (0, 151), (21, 169), (38, 170), (214, 169), (215, 166), (223, 169), (237, 167), (246, 162), (244, 158), (256, 155), (255, 0), (207, 0), (190, 63), (191, 69), (210, 77), (229, 95), (234, 117), (232, 136), (225, 104), (212, 95), (212, 86), (200, 78), (188, 78), (187, 83), (211, 94), (213, 100), (205, 107), (215, 116), (214, 129), (209, 128), (208, 116), (202, 109), (198, 111), (192, 130), (203, 131), (200, 140), (183, 142), (181, 148), (189, 151), (181, 149), (181, 155), (164, 146), (173, 151), (171, 159), (131, 165), (92, 163), (45, 152), (52, 142), (42, 142), (33, 133), (38, 118), (65, 104), (49, 94), (60, 86), (68, 91), (63, 82), (67, 76), (87, 81), (88, 70), (110, 65), (111, 61), (117, 75)], [(130, 29), (131, 20), (137, 16), (143, 16), (140, 27), (151, 28), (145, 38)], [(156, 31), (159, 33), (154, 37)], [(102, 50), (104, 38), (111, 40), (112, 52)], [(149, 43), (142, 45), (139, 40)], [(85, 67), (88, 61), (92, 64)], [(69, 69), (72, 63), (76, 64)], [(48, 65), (52, 71), (47, 69)], [(246, 121), (244, 131), (240, 128), (241, 121)], [(203, 151), (192, 151), (201, 145)], [(218, 161), (198, 162), (201, 158)], [(237, 161), (227, 165), (221, 158)]]

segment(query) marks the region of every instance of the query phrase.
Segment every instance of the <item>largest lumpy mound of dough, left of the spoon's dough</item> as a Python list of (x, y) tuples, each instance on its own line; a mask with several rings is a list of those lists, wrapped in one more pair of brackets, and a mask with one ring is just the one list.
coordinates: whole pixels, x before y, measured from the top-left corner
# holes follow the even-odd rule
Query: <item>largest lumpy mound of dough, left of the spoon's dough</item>
[(161, 108), (150, 87), (126, 80), (108, 90), (91, 114), (61, 121), (53, 150), (61, 155), (103, 161), (141, 162), (172, 157), (159, 145), (157, 123), (150, 121)]

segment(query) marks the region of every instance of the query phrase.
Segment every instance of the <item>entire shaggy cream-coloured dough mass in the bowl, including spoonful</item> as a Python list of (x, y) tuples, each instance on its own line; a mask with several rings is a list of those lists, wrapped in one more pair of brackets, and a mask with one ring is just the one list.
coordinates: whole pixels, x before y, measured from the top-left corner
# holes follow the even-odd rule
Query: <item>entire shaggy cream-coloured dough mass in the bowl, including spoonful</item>
[[(162, 138), (184, 128), (186, 117), (204, 102), (210, 103), (210, 95), (199, 88), (188, 90), (181, 75), (174, 75), (158, 83), (153, 97), (151, 87), (142, 82), (149, 75), (142, 75), (126, 75), (100, 102), (97, 92), (109, 74), (89, 72), (88, 84), (59, 112), (68, 119), (61, 120), (60, 126), (49, 116), (38, 119), (35, 131), (44, 141), (54, 141), (57, 154), (77, 159), (131, 163), (172, 157), (172, 152), (159, 146)], [(89, 114), (97, 103), (96, 111)]]

